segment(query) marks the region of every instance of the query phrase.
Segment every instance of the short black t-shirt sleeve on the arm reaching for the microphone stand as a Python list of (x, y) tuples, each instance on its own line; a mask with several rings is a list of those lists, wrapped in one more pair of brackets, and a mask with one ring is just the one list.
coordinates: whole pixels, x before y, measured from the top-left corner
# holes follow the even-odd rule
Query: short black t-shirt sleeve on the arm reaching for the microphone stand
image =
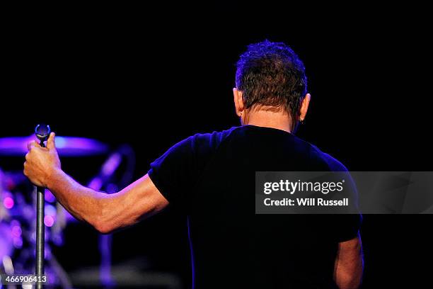
[(212, 135), (193, 135), (151, 163), (149, 177), (172, 205), (185, 205), (212, 153)]

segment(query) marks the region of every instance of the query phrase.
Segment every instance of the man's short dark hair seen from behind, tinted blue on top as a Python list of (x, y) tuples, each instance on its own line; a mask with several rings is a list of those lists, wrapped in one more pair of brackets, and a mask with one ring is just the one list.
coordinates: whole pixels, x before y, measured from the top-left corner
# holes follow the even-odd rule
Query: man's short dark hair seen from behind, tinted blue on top
[(289, 46), (269, 40), (248, 45), (236, 67), (236, 87), (246, 108), (283, 108), (296, 120), (307, 82), (304, 64)]

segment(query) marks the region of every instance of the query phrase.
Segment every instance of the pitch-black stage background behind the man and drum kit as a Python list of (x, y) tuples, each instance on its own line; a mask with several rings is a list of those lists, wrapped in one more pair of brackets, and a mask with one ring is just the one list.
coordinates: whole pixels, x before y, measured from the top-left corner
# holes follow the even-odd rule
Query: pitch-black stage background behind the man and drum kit
[[(352, 171), (432, 171), (425, 7), (296, 13), (275, 6), (253, 13), (224, 2), (200, 12), (193, 6), (13, 17), (2, 45), (0, 137), (30, 135), (44, 121), (57, 135), (91, 137), (112, 148), (127, 143), (137, 154), (138, 178), (175, 142), (238, 125), (234, 64), (248, 43), (269, 39), (286, 42), (306, 65), (312, 100), (300, 137)], [(0, 157), (5, 169), (21, 169), (22, 162)], [(62, 166), (86, 183), (102, 162), (64, 159)], [(365, 215), (364, 288), (432, 285), (432, 220)], [(67, 270), (98, 264), (91, 228), (71, 225), (66, 237), (56, 252)], [(113, 261), (145, 256), (149, 270), (174, 272), (188, 284), (187, 248), (185, 220), (168, 210), (117, 232)], [(77, 251), (80, 259), (71, 258)]]

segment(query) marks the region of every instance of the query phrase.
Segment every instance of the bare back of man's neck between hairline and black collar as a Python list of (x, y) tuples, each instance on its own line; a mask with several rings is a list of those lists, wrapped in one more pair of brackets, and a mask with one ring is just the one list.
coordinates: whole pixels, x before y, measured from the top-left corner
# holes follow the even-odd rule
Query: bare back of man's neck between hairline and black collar
[(291, 132), (291, 117), (282, 111), (273, 112), (264, 109), (246, 111), (243, 125), (276, 128), (277, 130)]

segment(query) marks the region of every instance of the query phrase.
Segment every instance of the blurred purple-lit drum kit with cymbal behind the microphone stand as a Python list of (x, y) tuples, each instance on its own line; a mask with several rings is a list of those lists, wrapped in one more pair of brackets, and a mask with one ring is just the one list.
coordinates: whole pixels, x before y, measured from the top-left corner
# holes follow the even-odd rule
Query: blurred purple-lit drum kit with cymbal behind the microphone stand
[[(23, 162), (27, 144), (35, 140), (29, 137), (0, 138), (0, 160), (6, 157), (11, 162)], [(107, 157), (96, 176), (90, 178), (88, 186), (95, 190), (113, 193), (132, 181), (135, 166), (134, 151), (128, 145), (111, 150), (98, 140), (83, 137), (56, 137), (60, 157)], [(22, 171), (6, 171), (0, 162), (0, 273), (35, 273), (35, 251), (37, 237), (37, 193), (36, 188)], [(62, 246), (63, 232), (67, 225), (75, 222), (74, 217), (57, 203), (50, 191), (45, 190), (45, 275), (55, 288), (72, 288), (71, 281), (61, 264), (52, 254), (52, 246)], [(38, 200), (39, 201), (39, 200)], [(110, 237), (100, 237), (102, 256), (101, 272), (105, 273), (102, 283), (110, 283)], [(101, 244), (102, 243), (102, 244)], [(102, 248), (102, 249), (101, 249)], [(108, 248), (108, 249), (107, 249)], [(37, 268), (37, 266), (36, 266)], [(108, 272), (108, 273), (107, 273)], [(104, 277), (101, 277), (104, 278)], [(1, 285), (0, 285), (1, 288)], [(13, 286), (7, 288), (16, 288)]]

